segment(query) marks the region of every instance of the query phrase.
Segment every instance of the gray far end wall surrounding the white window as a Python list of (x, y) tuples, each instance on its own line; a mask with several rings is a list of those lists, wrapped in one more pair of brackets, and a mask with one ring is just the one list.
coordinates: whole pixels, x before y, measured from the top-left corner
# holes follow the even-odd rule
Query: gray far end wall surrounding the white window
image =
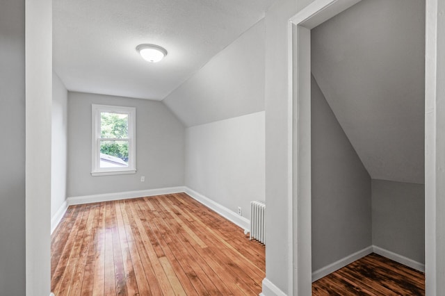
[[(91, 176), (91, 104), (136, 107), (136, 174)], [(68, 92), (68, 145), (68, 197), (184, 185), (184, 126), (161, 101)]]

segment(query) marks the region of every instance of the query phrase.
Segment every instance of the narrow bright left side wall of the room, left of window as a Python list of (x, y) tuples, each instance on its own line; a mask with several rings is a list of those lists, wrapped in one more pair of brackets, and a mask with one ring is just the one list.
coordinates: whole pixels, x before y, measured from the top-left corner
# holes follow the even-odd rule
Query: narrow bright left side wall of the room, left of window
[(68, 92), (53, 72), (51, 120), (51, 217), (63, 205), (67, 188), (67, 104)]

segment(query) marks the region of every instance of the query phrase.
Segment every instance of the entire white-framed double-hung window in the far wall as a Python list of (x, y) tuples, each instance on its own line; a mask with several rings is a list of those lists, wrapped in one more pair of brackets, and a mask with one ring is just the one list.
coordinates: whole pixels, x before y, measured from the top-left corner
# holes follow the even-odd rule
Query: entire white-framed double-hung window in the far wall
[(92, 104), (92, 176), (136, 172), (136, 108)]

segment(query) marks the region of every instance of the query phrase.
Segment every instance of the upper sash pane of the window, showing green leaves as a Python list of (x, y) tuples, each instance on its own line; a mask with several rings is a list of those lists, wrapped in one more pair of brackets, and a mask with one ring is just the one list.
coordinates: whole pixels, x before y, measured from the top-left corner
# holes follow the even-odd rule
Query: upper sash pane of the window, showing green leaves
[(101, 138), (129, 138), (128, 114), (101, 112), (100, 135)]

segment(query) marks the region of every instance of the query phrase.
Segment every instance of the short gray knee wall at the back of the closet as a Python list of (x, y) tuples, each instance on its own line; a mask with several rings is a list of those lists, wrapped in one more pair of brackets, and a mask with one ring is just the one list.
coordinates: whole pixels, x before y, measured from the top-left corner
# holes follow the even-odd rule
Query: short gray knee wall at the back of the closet
[(425, 263), (425, 186), (372, 180), (373, 245)]

